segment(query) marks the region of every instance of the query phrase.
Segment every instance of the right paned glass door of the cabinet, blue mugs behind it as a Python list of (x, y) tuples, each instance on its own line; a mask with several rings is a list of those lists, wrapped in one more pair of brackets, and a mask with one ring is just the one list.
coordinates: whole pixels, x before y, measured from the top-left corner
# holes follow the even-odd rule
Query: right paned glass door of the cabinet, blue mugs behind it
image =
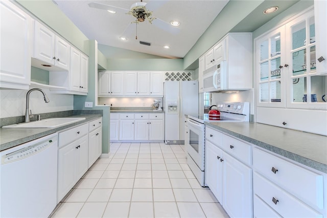
[[(289, 107), (308, 107), (310, 103), (318, 106), (326, 101), (326, 76), (316, 75), (316, 40), (314, 13), (308, 13), (287, 26), (290, 43), (290, 84)], [(300, 106), (302, 105), (302, 106)], [(313, 104), (311, 104), (313, 105)], [(318, 106), (319, 107), (319, 106)]]

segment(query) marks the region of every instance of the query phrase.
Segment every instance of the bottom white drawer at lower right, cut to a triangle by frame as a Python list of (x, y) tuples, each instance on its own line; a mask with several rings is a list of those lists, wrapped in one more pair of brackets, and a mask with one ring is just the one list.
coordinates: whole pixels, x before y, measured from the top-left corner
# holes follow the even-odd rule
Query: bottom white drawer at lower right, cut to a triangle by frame
[(282, 217), (269, 207), (258, 195), (253, 194), (253, 217)]

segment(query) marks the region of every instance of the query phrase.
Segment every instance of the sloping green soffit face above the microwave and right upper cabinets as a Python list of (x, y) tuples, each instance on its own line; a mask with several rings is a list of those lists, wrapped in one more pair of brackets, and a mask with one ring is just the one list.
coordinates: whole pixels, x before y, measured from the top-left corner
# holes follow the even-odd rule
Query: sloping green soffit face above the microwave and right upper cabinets
[[(235, 27), (242, 19), (258, 7), (263, 0), (229, 1), (218, 14), (213, 23), (198, 39), (193, 48), (184, 57), (184, 69), (197, 68), (198, 58), (215, 45), (226, 33)], [(192, 65), (193, 64), (193, 65)], [(191, 66), (191, 67), (190, 67)]]

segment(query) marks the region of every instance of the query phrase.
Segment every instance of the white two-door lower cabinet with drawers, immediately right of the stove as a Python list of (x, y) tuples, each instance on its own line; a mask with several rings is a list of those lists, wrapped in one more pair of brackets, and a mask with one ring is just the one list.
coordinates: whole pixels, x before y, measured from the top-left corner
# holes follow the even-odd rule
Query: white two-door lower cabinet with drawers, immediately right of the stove
[(240, 161), (251, 153), (238, 152), (250, 145), (209, 127), (205, 137), (205, 183), (230, 217), (252, 217), (252, 168)]

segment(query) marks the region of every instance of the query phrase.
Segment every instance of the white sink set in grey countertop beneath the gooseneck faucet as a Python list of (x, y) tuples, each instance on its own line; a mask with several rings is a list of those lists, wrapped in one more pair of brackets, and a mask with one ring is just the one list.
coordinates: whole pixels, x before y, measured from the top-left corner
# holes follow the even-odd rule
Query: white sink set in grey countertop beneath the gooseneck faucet
[(2, 128), (54, 128), (71, 123), (76, 123), (82, 120), (85, 120), (85, 117), (48, 118), (32, 122), (12, 124), (8, 126), (3, 126)]

